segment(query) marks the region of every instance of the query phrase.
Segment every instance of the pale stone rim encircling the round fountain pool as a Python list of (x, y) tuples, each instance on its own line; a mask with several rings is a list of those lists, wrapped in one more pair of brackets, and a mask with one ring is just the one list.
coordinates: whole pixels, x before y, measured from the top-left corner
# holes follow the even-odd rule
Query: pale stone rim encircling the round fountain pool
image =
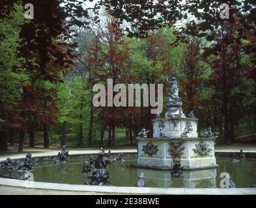
[[(113, 151), (117, 154), (121, 151)], [(137, 151), (126, 151), (124, 153), (131, 154)], [(216, 152), (217, 153), (217, 152)], [(225, 151), (225, 156), (233, 152)], [(250, 152), (251, 153), (251, 152)], [(83, 157), (85, 155), (93, 155), (95, 153), (74, 153), (70, 154), (72, 157)], [(55, 157), (55, 154), (34, 154), (35, 159), (41, 159), (46, 157)], [(256, 152), (253, 152), (253, 156)], [(222, 155), (221, 155), (222, 156)], [(14, 156), (11, 159), (17, 160), (23, 157)], [(0, 161), (3, 159), (0, 157)], [(92, 185), (72, 185), (64, 183), (48, 183), (48, 182), (37, 182), (37, 181), (21, 181), (18, 179), (7, 179), (0, 177), (0, 185), (6, 185), (10, 187), (21, 187), (21, 188), (35, 188), (35, 189), (46, 189), (46, 190), (59, 190), (63, 191), (76, 191), (76, 192), (96, 192), (96, 193), (110, 193), (110, 194), (167, 194), (167, 195), (256, 195), (256, 188), (153, 188), (153, 187), (99, 187)]]

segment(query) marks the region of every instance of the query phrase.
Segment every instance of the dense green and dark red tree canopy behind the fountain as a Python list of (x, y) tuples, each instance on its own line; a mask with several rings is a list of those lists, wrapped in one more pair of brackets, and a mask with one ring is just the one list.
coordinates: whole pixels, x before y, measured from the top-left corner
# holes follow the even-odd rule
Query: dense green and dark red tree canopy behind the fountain
[(250, 0), (1, 1), (0, 151), (22, 151), (26, 136), (45, 148), (133, 144), (141, 127), (152, 133), (150, 107), (96, 108), (92, 86), (164, 83), (167, 95), (172, 73), (199, 134), (212, 126), (234, 142), (256, 125), (255, 19)]

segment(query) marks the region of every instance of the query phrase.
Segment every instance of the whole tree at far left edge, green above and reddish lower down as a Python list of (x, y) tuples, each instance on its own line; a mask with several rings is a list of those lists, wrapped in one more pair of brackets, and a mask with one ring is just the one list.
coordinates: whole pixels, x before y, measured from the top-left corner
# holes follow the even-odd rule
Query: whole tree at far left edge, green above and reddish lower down
[(0, 151), (7, 151), (8, 132), (21, 129), (18, 104), (21, 86), (29, 83), (23, 59), (17, 57), (16, 47), (20, 38), (20, 24), (24, 23), (23, 10), (14, 5), (14, 10), (0, 19)]

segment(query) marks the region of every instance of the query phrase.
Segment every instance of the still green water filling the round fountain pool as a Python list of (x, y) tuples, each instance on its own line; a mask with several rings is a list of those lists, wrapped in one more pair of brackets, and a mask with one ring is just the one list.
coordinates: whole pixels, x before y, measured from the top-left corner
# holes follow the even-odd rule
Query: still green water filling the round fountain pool
[[(88, 181), (87, 175), (80, 175), (84, 161), (88, 159), (71, 159), (64, 164), (36, 162), (33, 166), (34, 180), (83, 185)], [(171, 177), (168, 170), (137, 168), (135, 159), (126, 157), (123, 167), (117, 161), (107, 166), (107, 170), (111, 185), (118, 187), (134, 187), (141, 172), (145, 175), (147, 187), (219, 188), (221, 172), (229, 173), (238, 188), (256, 184), (256, 175), (253, 174), (256, 171), (256, 159), (231, 162), (229, 157), (217, 157), (217, 164), (218, 168), (184, 171), (184, 177)]]

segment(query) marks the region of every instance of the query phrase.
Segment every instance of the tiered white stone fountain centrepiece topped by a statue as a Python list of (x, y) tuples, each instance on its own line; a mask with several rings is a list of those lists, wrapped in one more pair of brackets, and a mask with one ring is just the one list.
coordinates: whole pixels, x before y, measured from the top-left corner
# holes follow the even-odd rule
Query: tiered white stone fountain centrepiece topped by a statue
[(214, 168), (214, 140), (210, 130), (205, 137), (197, 136), (197, 118), (190, 112), (188, 118), (182, 109), (182, 99), (178, 96), (177, 79), (167, 79), (171, 85), (168, 93), (165, 118), (158, 114), (153, 123), (153, 137), (147, 138), (143, 128), (138, 141), (137, 166), (147, 168), (170, 169), (175, 161), (184, 169)]

